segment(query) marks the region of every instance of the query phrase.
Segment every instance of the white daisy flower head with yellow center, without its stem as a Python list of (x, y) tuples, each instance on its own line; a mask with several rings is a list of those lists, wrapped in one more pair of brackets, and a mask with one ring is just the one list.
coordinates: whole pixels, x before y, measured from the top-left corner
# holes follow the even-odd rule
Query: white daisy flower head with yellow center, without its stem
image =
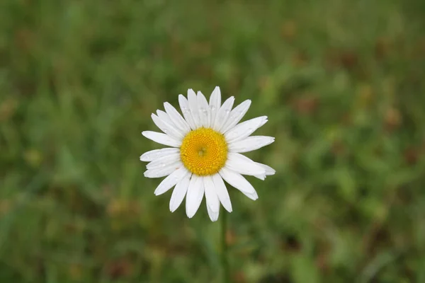
[[(271, 144), (274, 137), (250, 135), (266, 124), (267, 116), (239, 123), (251, 105), (245, 100), (232, 110), (234, 97), (221, 105), (220, 88), (212, 91), (210, 103), (200, 91), (188, 90), (188, 99), (179, 95), (183, 117), (170, 103), (165, 112), (157, 110), (152, 120), (163, 133), (145, 131), (143, 136), (159, 144), (171, 146), (155, 149), (140, 156), (149, 161), (147, 178), (166, 178), (158, 185), (155, 195), (162, 195), (174, 187), (170, 211), (174, 212), (186, 196), (186, 214), (193, 217), (205, 195), (208, 215), (217, 221), (220, 203), (232, 212), (232, 203), (223, 179), (256, 200), (254, 187), (242, 176), (252, 175), (264, 180), (273, 175), (273, 168), (256, 163), (241, 153)], [(239, 124), (238, 124), (239, 123)]]

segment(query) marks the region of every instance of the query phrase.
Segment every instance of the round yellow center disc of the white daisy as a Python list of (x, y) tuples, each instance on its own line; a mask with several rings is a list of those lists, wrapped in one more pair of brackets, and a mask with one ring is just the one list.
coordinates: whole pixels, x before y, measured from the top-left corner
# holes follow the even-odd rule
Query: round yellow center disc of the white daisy
[(193, 174), (213, 175), (225, 166), (227, 160), (225, 136), (210, 128), (195, 129), (184, 137), (180, 157)]

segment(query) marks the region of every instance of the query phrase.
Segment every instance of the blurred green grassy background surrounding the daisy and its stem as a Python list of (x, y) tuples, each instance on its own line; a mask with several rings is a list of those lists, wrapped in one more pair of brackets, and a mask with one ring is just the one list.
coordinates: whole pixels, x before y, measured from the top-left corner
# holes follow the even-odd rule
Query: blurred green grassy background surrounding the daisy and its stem
[[(205, 203), (143, 176), (150, 113), (251, 99), (233, 282), (425, 282), (422, 0), (0, 1), (0, 282), (220, 282)], [(221, 209), (221, 212), (224, 210)]]

